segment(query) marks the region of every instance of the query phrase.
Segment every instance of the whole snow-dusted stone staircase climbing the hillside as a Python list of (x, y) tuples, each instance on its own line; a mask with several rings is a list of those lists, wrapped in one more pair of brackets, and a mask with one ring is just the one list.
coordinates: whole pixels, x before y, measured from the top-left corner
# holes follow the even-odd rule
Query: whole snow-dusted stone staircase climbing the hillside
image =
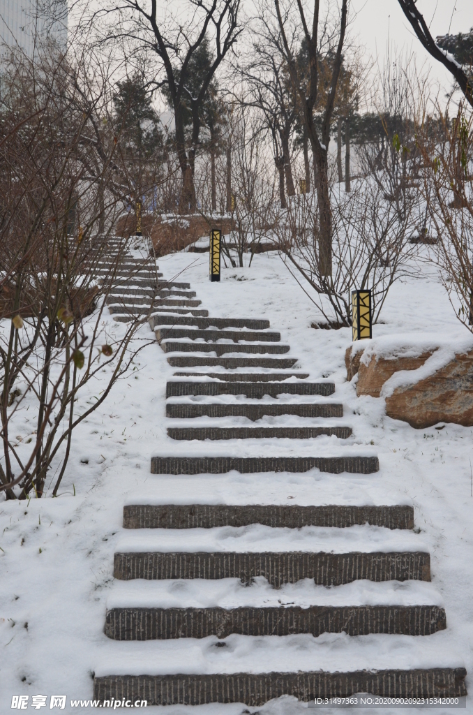
[[(465, 695), (466, 671), (438, 640), (446, 614), (412, 506), (244, 501), (272, 473), (288, 483), (310, 470), (376, 475), (377, 457), (349, 443), (335, 385), (309, 381), (297, 358), (269, 357), (290, 347), (267, 320), (209, 317), (189, 284), (149, 274), (119, 277), (109, 308), (115, 320), (146, 313), (169, 365), (186, 368), (166, 385), (178, 425), (169, 452), (180, 441), (151, 458), (154, 496), (150, 486), (124, 506), (105, 634), (126, 642), (96, 669), (94, 698), (262, 706), (283, 695)], [(278, 448), (309, 439), (310, 456)], [(204, 481), (230, 473), (254, 475), (240, 477), (243, 503), (224, 503), (224, 488), (202, 502)], [(192, 480), (179, 503), (163, 503), (181, 475)], [(310, 489), (317, 502), (317, 482)]]

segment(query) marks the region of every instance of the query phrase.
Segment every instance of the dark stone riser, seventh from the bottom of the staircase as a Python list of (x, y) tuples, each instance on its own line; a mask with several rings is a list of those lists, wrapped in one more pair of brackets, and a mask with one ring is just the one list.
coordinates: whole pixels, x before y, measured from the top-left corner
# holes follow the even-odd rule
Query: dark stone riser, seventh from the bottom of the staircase
[(253, 422), (262, 417), (297, 415), (297, 417), (343, 417), (343, 405), (337, 403), (263, 404), (263, 405), (199, 405), (194, 403), (167, 403), (166, 417), (183, 420), (194, 417), (246, 417)]

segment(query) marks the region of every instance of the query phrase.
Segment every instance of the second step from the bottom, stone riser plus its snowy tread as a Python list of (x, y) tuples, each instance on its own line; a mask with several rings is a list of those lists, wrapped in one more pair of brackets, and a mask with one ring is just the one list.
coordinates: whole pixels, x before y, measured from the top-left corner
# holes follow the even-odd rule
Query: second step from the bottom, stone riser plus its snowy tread
[(278, 591), (258, 577), (182, 583), (116, 581), (107, 599), (106, 635), (117, 640), (226, 638), (231, 633), (404, 633), (446, 628), (442, 597), (425, 581), (354, 581), (327, 589), (310, 579)]

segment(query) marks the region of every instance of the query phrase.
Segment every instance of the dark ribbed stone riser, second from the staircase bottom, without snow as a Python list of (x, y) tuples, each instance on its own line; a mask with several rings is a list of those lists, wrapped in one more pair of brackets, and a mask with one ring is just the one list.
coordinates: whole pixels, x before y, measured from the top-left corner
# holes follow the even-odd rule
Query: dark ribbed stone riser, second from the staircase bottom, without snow
[(111, 608), (105, 635), (116, 641), (174, 638), (370, 633), (432, 636), (447, 628), (439, 606), (246, 606), (240, 608)]

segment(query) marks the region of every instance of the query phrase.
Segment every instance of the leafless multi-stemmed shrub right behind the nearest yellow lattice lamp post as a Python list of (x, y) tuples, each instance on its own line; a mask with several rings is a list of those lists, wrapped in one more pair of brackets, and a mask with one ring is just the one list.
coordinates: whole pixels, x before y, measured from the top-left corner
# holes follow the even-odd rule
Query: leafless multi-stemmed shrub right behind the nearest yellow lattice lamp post
[(368, 179), (357, 183), (351, 193), (332, 197), (335, 260), (330, 277), (321, 272), (315, 255), (314, 224), (319, 216), (313, 197), (296, 197), (284, 216), (274, 222), (283, 260), (322, 313), (322, 327), (351, 325), (350, 291), (354, 286), (372, 289), (376, 322), (390, 287), (409, 271), (409, 258), (416, 251), (407, 240), (412, 214), (399, 217), (383, 194)]

